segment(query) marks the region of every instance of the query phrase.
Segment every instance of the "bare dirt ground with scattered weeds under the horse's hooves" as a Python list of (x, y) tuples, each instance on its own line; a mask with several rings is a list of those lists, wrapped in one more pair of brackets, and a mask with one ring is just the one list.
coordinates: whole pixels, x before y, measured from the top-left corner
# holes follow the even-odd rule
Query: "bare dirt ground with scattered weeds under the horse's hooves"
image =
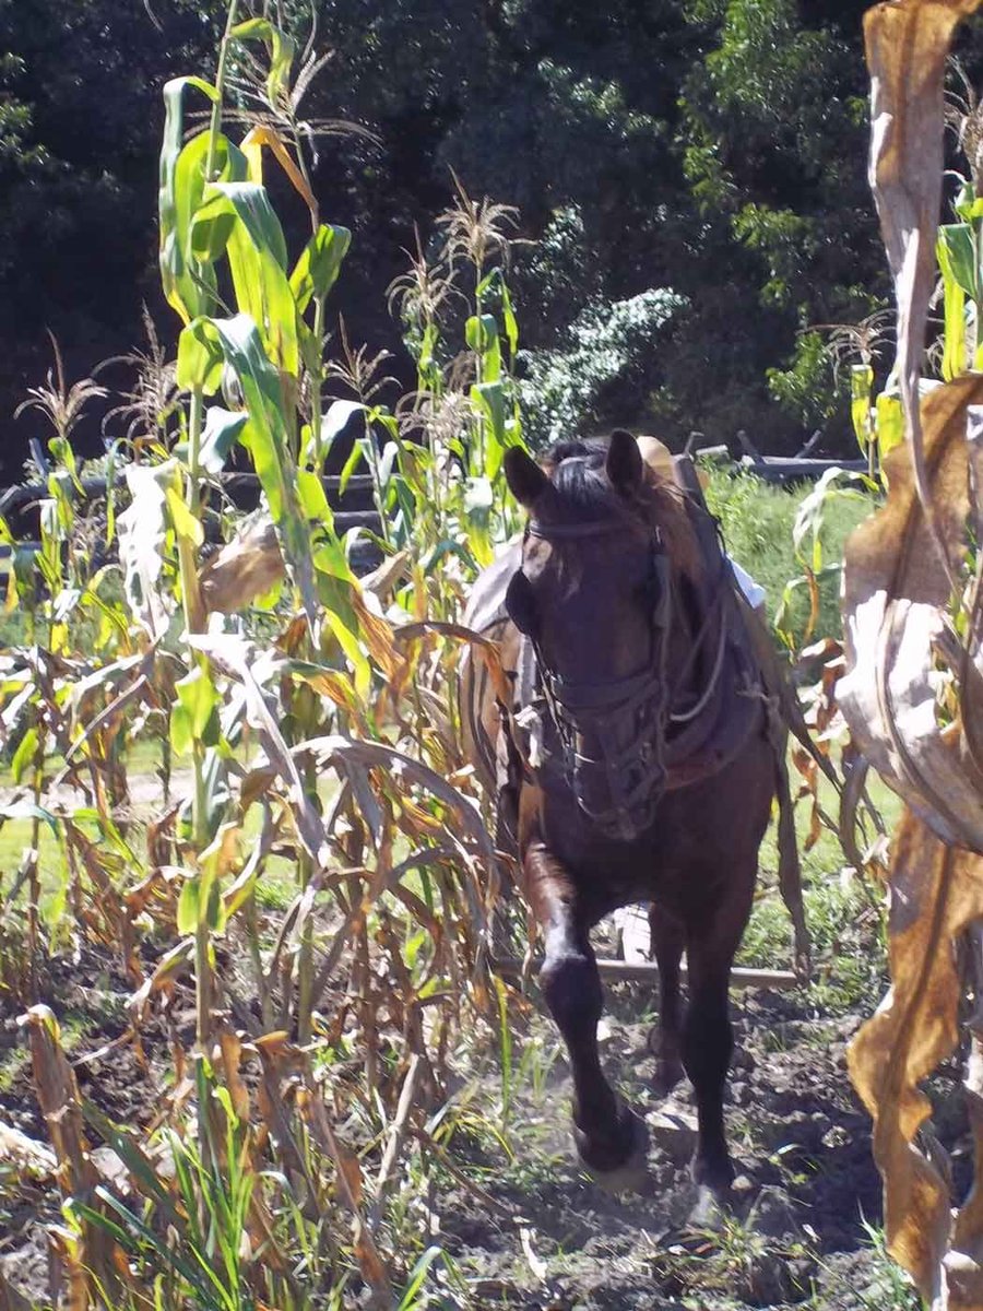
[[(860, 1016), (820, 1019), (789, 994), (735, 998), (727, 1105), (735, 1210), (721, 1232), (700, 1235), (687, 1227), (695, 1201), (688, 1086), (670, 1103), (649, 1091), (644, 1004), (638, 987), (619, 990), (603, 1054), (650, 1121), (650, 1196), (609, 1197), (573, 1163), (568, 1071), (550, 1062), (553, 1032), (535, 1017), (510, 1117), (514, 1159), (494, 1143), (474, 1141), (467, 1152), (459, 1143), (494, 1210), (467, 1188), (440, 1198), (443, 1242), (476, 1306), (914, 1311), (917, 1299), (865, 1228), (879, 1223), (881, 1189), (844, 1059)], [(476, 1101), (488, 1104), (498, 1091), (489, 1076)]]

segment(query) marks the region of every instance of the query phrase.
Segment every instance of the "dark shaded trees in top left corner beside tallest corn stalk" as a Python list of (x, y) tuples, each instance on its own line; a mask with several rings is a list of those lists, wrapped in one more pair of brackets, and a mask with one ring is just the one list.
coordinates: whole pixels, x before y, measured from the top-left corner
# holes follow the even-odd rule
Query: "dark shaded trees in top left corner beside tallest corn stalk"
[[(218, 5), (0, 0), (0, 405), (50, 362), (125, 350), (152, 299), (155, 195), (172, 69), (212, 58)], [(28, 425), (18, 425), (26, 431)], [(24, 454), (4, 450), (5, 473)]]

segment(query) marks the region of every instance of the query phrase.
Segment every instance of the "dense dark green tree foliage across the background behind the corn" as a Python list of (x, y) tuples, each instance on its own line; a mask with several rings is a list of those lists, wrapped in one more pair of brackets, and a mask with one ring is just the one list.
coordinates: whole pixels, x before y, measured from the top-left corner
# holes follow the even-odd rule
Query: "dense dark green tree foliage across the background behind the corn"
[[(308, 5), (278, 8), (307, 31)], [(164, 317), (148, 218), (160, 87), (177, 67), (207, 67), (219, 10), (0, 0), (5, 420), (47, 364), (45, 325), (77, 375), (139, 338), (142, 299)], [(815, 400), (828, 371), (809, 338), (797, 350), (797, 332), (856, 320), (885, 290), (864, 181), (861, 4), (332, 0), (316, 10), (315, 47), (336, 54), (303, 117), (374, 134), (320, 138), (313, 172), (355, 233), (338, 288), (353, 340), (398, 351), (384, 291), (414, 223), (425, 241), (433, 231), (452, 166), (472, 194), (520, 210), (536, 243), (516, 252), (527, 368), (577, 376), (578, 422), (671, 437), (697, 427), (717, 440), (746, 427), (769, 450), (796, 447), (817, 422), (845, 434), (843, 406), (831, 420), (835, 404)], [(676, 298), (667, 320), (645, 311), (658, 291)], [(616, 358), (588, 379), (585, 334), (602, 346), (617, 337)], [(792, 362), (769, 389), (768, 370)], [(16, 468), (31, 425), (14, 431)]]

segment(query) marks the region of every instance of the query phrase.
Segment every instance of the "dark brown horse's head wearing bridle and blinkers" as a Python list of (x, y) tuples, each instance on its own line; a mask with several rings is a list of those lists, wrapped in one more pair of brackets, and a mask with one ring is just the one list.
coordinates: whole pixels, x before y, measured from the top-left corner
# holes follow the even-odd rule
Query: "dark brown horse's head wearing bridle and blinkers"
[(667, 561), (654, 480), (629, 433), (564, 442), (506, 479), (530, 522), (509, 615), (536, 652), (566, 780), (608, 836), (653, 822), (665, 785)]

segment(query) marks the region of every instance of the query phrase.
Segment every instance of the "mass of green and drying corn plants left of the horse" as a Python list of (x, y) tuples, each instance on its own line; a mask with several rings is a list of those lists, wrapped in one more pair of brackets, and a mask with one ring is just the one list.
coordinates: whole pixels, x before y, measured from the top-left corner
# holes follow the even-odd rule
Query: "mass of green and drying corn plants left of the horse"
[[(425, 1169), (442, 1150), (426, 1122), (457, 1034), (474, 1017), (501, 1032), (505, 1006), (486, 969), (495, 853), (448, 697), (457, 649), (434, 621), (457, 617), (515, 522), (498, 496), (503, 451), (522, 439), (510, 211), (459, 186), (440, 258), (468, 290), (418, 321), (404, 302), (427, 345), (418, 393), (389, 408), (376, 357), (343, 333), (326, 354), (350, 235), (322, 222), (305, 156), (317, 125), (300, 106), (321, 63), (296, 69), (290, 34), (232, 0), (215, 76), (165, 87), (160, 271), (176, 359), (155, 329), (131, 361), (143, 378), (106, 420), (96, 532), (71, 442), (79, 406), (47, 405), (41, 545), (10, 574), (30, 644), (0, 669), (20, 787), (0, 821), (30, 817), (33, 840), (3, 888), (10, 909), (26, 888), (30, 978), (12, 958), (5, 986), (43, 999), (37, 966), (60, 919), (125, 965), (138, 1051), (151, 1019), (173, 1033), (174, 998), (194, 988), (194, 1041), (172, 1037), (149, 1138), (84, 1103), (56, 1025), (28, 1012), (43, 1110), (73, 1126), (54, 1143), (52, 1243), (79, 1306), (292, 1311), (367, 1290), (410, 1307), (431, 1274), (453, 1278), (425, 1235), (408, 1245), (389, 1224), (400, 1163), (413, 1154)], [(189, 132), (199, 100), (207, 121)], [(307, 207), (300, 250), (266, 168)], [(451, 304), (467, 307), (453, 326), (435, 312)], [(48, 391), (66, 389), (59, 364)], [(383, 564), (362, 582), (321, 476), (354, 418), (342, 481), (364, 461), (385, 524)], [(262, 492), (248, 522), (224, 493), (233, 459)], [(135, 817), (127, 763), (143, 743), (165, 801)], [(45, 829), (63, 869), (47, 933)], [(125, 1188), (89, 1168), (93, 1141), (113, 1147)]]

